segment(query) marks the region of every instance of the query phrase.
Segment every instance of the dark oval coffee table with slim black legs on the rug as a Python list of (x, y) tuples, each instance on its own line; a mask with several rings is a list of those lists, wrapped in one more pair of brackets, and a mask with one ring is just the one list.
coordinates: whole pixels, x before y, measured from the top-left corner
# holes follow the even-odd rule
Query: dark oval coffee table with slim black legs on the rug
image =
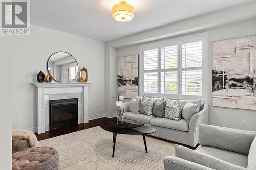
[(143, 140), (144, 140), (145, 150), (146, 150), (146, 153), (147, 153), (145, 134), (150, 134), (150, 133), (156, 132), (155, 128), (143, 125), (143, 126), (140, 126), (140, 127), (137, 127), (137, 128), (125, 129), (125, 128), (121, 128), (121, 127), (118, 127), (118, 126), (114, 125), (114, 123), (115, 123), (114, 121), (103, 121), (103, 122), (100, 123), (100, 127), (102, 129), (113, 133), (113, 143), (114, 143), (114, 145), (113, 145), (112, 157), (114, 157), (114, 154), (115, 154), (116, 136), (117, 136), (118, 133), (119, 134), (125, 134), (125, 135), (142, 135)]

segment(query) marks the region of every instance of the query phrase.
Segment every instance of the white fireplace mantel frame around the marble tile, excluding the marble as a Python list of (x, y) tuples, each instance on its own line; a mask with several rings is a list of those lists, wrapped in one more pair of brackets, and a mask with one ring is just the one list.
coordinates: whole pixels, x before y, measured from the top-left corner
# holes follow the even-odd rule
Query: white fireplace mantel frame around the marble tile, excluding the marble
[(82, 93), (83, 123), (88, 123), (88, 86), (91, 83), (32, 83), (36, 87), (37, 132), (45, 133), (45, 95)]

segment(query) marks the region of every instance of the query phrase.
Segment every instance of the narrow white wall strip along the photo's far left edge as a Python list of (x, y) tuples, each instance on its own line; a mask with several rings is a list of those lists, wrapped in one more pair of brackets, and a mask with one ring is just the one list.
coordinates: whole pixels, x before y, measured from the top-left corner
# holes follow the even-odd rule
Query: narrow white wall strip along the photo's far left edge
[(11, 169), (12, 159), (12, 101), (11, 101), (11, 36), (0, 38), (0, 160), (1, 169)]

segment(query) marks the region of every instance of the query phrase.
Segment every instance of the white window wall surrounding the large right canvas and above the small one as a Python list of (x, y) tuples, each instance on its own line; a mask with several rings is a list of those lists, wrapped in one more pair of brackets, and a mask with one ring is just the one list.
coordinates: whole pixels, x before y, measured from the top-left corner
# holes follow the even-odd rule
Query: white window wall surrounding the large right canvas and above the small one
[[(249, 35), (256, 35), (256, 19), (232, 23), (230, 25), (207, 29), (209, 31), (209, 124), (256, 131), (256, 111), (245, 109), (232, 109), (212, 106), (212, 42), (237, 38)], [(193, 34), (193, 33), (192, 33)], [(182, 35), (181, 35), (182, 36)], [(127, 56), (131, 54), (140, 54), (140, 45), (132, 45), (118, 48), (116, 56)], [(247, 121), (247, 127), (241, 126), (241, 120)]]

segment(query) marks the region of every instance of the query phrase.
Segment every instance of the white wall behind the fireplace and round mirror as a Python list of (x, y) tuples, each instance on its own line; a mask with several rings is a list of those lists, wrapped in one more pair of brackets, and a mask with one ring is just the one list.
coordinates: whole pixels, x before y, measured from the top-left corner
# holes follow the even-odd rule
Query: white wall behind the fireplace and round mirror
[[(35, 88), (31, 83), (36, 82), (40, 70), (48, 74), (47, 60), (57, 51), (72, 54), (79, 70), (82, 66), (88, 70), (88, 82), (92, 83), (89, 86), (89, 119), (105, 113), (104, 42), (30, 25), (30, 35), (14, 36), (12, 48), (14, 130), (36, 127)], [(93, 109), (95, 104), (100, 108)]]

